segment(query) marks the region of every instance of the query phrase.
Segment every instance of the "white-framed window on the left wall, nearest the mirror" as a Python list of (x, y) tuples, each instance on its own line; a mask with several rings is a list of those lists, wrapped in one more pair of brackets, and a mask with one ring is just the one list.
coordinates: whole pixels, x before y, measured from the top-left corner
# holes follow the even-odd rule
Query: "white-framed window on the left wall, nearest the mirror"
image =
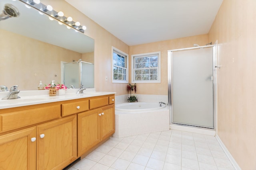
[(112, 82), (128, 83), (128, 54), (112, 47)]

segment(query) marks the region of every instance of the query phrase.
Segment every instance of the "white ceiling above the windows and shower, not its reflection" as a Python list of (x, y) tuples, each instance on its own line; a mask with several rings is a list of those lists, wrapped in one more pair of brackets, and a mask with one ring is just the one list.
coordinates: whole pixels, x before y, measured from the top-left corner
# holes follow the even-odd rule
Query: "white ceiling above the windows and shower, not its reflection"
[(66, 0), (127, 45), (206, 34), (223, 0)]

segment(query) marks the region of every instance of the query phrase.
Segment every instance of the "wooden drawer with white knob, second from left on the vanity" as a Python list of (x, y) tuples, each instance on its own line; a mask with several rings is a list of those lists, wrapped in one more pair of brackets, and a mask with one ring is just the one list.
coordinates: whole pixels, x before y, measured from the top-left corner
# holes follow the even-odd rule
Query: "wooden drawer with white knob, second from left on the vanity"
[(62, 116), (71, 115), (81, 111), (86, 111), (88, 109), (89, 109), (88, 100), (62, 104)]

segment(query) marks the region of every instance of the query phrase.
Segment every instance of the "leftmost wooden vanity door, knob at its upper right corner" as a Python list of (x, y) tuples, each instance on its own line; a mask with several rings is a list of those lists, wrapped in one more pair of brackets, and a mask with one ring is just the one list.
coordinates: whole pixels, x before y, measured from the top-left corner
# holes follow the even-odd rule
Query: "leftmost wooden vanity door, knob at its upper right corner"
[(0, 169), (36, 169), (36, 127), (0, 136)]

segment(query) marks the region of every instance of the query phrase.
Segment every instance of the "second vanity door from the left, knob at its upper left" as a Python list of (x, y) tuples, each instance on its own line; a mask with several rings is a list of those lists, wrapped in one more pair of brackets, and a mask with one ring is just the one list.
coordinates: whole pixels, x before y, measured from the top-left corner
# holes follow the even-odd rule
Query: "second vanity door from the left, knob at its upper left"
[(37, 170), (60, 170), (76, 160), (76, 115), (37, 126)]

